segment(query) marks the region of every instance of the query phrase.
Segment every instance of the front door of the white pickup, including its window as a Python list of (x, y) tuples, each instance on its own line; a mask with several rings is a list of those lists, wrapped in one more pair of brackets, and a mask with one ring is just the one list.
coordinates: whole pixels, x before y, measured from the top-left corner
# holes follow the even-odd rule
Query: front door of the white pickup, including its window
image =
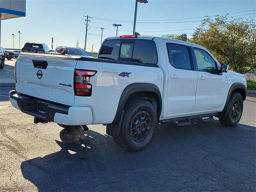
[(196, 104), (192, 112), (216, 111), (224, 102), (228, 78), (225, 74), (219, 75), (216, 61), (206, 50), (200, 48), (193, 50), (198, 83)]

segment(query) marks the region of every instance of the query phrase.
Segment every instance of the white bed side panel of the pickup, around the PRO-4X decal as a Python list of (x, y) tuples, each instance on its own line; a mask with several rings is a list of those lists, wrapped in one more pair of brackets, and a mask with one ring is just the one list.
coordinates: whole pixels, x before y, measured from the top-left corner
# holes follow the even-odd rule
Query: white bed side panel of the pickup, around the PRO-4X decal
[[(92, 96), (75, 96), (75, 106), (92, 109), (93, 124), (108, 124), (114, 120), (121, 94), (129, 84), (150, 83), (156, 85), (160, 92), (163, 87), (163, 74), (160, 68), (134, 66), (115, 63), (78, 61), (76, 68), (97, 70), (90, 78)], [(103, 72), (131, 72), (130, 77), (102, 76)]]

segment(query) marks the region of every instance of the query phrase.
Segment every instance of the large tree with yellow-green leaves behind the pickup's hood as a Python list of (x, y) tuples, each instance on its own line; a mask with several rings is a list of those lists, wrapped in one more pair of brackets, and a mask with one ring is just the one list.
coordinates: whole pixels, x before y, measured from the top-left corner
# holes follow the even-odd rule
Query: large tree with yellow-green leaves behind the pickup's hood
[(222, 64), (246, 73), (256, 70), (256, 23), (227, 16), (202, 20), (189, 40), (207, 48)]

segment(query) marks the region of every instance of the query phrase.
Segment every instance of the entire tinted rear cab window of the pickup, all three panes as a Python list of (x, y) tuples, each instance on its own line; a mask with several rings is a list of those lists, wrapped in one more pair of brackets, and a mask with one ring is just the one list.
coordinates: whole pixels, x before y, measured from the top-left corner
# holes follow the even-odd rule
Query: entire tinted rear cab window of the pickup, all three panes
[(98, 58), (144, 64), (158, 63), (155, 42), (142, 39), (106, 40)]

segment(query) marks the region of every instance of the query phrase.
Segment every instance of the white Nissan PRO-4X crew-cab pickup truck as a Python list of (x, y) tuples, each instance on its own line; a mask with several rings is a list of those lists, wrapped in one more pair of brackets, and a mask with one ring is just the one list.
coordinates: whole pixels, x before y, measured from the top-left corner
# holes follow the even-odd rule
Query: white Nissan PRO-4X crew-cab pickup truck
[(216, 116), (235, 126), (246, 99), (245, 77), (204, 47), (151, 36), (106, 38), (98, 58), (22, 53), (15, 78), (10, 102), (35, 123), (106, 124), (129, 151), (146, 148), (162, 123)]

